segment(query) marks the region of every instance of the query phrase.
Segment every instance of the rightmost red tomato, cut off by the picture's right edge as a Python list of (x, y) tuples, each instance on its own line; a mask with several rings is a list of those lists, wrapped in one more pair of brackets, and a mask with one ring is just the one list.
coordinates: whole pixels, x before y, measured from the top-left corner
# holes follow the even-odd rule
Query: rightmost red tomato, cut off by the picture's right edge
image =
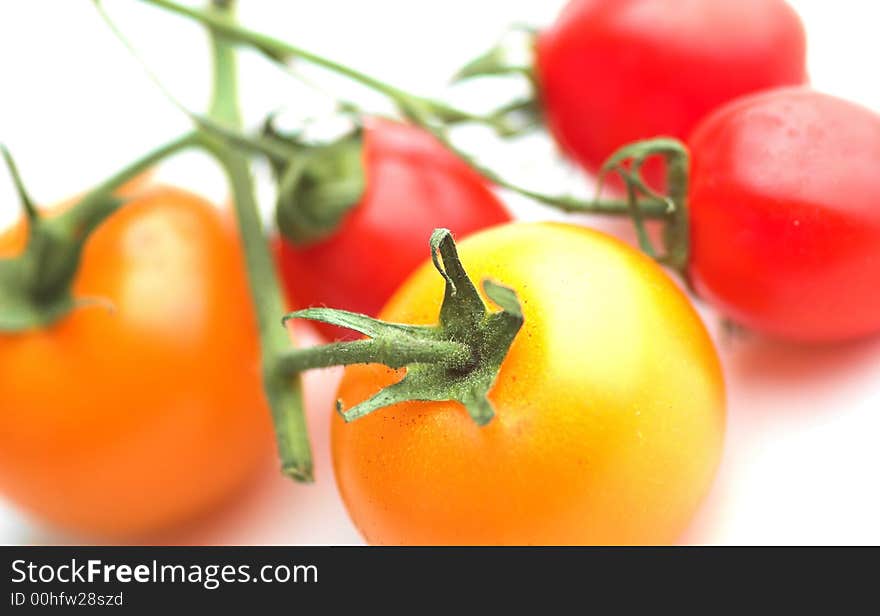
[(880, 115), (788, 88), (719, 109), (690, 148), (701, 296), (794, 341), (880, 331)]

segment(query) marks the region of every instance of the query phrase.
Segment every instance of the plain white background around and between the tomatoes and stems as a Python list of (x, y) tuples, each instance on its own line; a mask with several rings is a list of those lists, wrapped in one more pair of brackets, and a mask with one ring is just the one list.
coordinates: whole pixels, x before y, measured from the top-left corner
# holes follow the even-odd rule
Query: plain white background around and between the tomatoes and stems
[[(112, 15), (174, 95), (202, 106), (208, 58), (199, 28), (133, 0), (107, 0)], [(546, 24), (561, 0), (242, 0), (242, 21), (428, 94), (444, 93), (453, 70), (512, 22)], [(880, 57), (872, 0), (801, 0), (809, 65), (818, 89), (880, 110)], [(247, 120), (293, 107), (320, 113), (328, 100), (309, 94), (257, 56), (244, 54)], [(377, 110), (380, 99), (336, 78), (305, 71), (327, 91)], [(516, 85), (507, 85), (507, 92)], [(601, 87), (599, 84), (597, 87)], [(485, 104), (480, 87), (452, 94)], [(88, 0), (0, 2), (0, 139), (15, 153), (37, 200), (51, 203), (88, 188), (112, 170), (187, 128), (144, 76)], [(486, 160), (537, 186), (586, 183), (560, 171), (546, 139), (503, 148), (465, 135)], [(880, 172), (880, 170), (878, 170)], [(161, 177), (222, 201), (224, 185), (198, 156), (174, 159)], [(264, 182), (267, 201), (271, 193)], [(506, 196), (507, 197), (507, 196)], [(880, 197), (880, 195), (878, 195)], [(520, 215), (553, 217), (508, 198)], [(878, 206), (880, 207), (880, 206)], [(17, 213), (0, 174), (0, 225)], [(620, 228), (615, 228), (620, 230)], [(878, 281), (880, 284), (880, 281)], [(718, 480), (684, 541), (690, 543), (880, 543), (880, 340), (824, 348), (785, 346), (716, 334), (729, 388), (728, 439)], [(157, 542), (356, 543), (336, 495), (327, 445), (336, 371), (307, 378), (317, 484), (295, 485), (267, 467), (223, 511)], [(3, 409), (0, 409), (2, 412)], [(158, 453), (157, 453), (158, 455)], [(31, 525), (0, 502), (0, 543), (83, 541)]]

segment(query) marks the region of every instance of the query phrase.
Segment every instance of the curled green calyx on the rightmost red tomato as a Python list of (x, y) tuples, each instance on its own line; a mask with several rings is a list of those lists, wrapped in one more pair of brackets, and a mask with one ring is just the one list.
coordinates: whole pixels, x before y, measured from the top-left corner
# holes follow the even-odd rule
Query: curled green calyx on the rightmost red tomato
[[(661, 156), (666, 164), (666, 194), (654, 190), (642, 178), (641, 168), (652, 156)], [(685, 282), (690, 258), (687, 208), (689, 164), (688, 149), (677, 139), (658, 137), (630, 143), (614, 152), (602, 165), (596, 191), (596, 203), (600, 203), (605, 178), (609, 173), (620, 176), (626, 189), (628, 212), (636, 227), (640, 248), (652, 259), (679, 273)], [(646, 203), (652, 206), (650, 212), (645, 210)], [(662, 253), (654, 247), (645, 227), (646, 217), (657, 218), (655, 210), (658, 203), (665, 205), (661, 218), (665, 223)]]

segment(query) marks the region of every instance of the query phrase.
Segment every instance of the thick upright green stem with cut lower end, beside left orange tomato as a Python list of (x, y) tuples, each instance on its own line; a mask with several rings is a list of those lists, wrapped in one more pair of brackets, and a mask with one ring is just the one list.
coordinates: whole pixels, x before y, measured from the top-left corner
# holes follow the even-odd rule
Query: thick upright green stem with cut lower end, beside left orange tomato
[[(231, 1), (215, 0), (212, 10), (206, 14), (211, 15), (217, 23), (234, 26), (233, 4)], [(235, 51), (220, 30), (212, 32), (211, 49), (214, 89), (209, 115), (213, 120), (239, 128), (241, 117)], [(278, 316), (284, 314), (286, 305), (254, 197), (248, 160), (207, 133), (202, 133), (202, 142), (226, 171), (232, 188), (260, 331), (263, 386), (272, 410), (282, 469), (298, 481), (311, 481), (312, 456), (301, 382), (298, 376), (288, 376), (278, 368), (279, 358), (290, 346), (287, 331), (278, 325)]]

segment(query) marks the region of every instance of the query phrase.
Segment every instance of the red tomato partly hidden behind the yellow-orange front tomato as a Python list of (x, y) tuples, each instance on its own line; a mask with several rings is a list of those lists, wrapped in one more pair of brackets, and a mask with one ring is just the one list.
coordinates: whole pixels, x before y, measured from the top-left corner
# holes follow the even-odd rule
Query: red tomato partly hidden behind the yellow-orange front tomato
[(511, 219), (482, 177), (417, 127), (368, 119), (364, 164), (365, 193), (333, 236), (308, 246), (278, 242), (284, 285), (297, 308), (376, 315), (425, 260), (435, 228), (464, 237)]

